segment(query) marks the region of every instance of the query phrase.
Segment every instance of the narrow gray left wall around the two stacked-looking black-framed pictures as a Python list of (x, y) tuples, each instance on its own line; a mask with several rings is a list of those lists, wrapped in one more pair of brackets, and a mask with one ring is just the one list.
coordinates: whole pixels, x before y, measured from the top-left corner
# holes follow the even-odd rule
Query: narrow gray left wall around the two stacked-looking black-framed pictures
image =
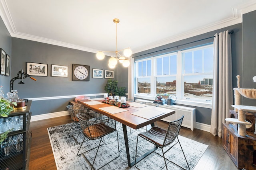
[[(2, 18), (0, 18), (0, 48), (3, 49), (4, 52), (8, 54), (10, 57), (12, 56), (12, 37), (10, 36), (10, 33), (8, 32), (6, 26), (4, 25)], [(0, 75), (0, 85), (3, 86), (3, 91), (5, 95), (7, 92), (9, 92), (9, 84), (10, 76)]]

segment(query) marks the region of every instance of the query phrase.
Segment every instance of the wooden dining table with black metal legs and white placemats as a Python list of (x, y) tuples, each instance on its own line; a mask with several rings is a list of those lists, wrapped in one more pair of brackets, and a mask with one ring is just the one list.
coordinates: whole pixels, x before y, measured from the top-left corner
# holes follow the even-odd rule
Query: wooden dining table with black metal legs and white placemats
[[(174, 114), (175, 111), (172, 109), (154, 107), (136, 102), (127, 102), (130, 105), (129, 107), (120, 108), (106, 104), (104, 100), (104, 98), (94, 98), (78, 100), (78, 103), (82, 104), (84, 107), (92, 109), (98, 113), (101, 113), (102, 115), (106, 115), (107, 117), (122, 123), (128, 166), (132, 167), (135, 164), (135, 160), (131, 162), (130, 159), (127, 126), (133, 129), (140, 129), (151, 124), (153, 127), (156, 121)], [(156, 150), (156, 148), (151, 149), (146, 154), (136, 158), (136, 162), (139, 162), (154, 150)]]

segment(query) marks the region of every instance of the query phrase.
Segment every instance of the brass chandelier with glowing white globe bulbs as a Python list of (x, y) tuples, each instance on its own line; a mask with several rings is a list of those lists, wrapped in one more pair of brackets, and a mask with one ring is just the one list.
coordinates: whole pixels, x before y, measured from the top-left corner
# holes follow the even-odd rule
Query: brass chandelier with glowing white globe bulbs
[[(96, 57), (99, 60), (103, 60), (105, 57), (105, 53), (115, 53), (115, 57), (110, 57), (110, 59), (108, 60), (108, 66), (110, 68), (115, 68), (117, 62), (119, 61), (120, 63), (123, 64), (124, 67), (128, 67), (130, 65), (130, 61), (127, 57), (131, 57), (132, 55), (132, 50), (129, 48), (126, 49), (122, 49), (122, 50), (117, 50), (117, 23), (119, 23), (119, 19), (115, 18), (114, 23), (116, 23), (116, 51), (98, 51), (96, 53)], [(120, 55), (120, 51), (123, 51), (124, 56)]]

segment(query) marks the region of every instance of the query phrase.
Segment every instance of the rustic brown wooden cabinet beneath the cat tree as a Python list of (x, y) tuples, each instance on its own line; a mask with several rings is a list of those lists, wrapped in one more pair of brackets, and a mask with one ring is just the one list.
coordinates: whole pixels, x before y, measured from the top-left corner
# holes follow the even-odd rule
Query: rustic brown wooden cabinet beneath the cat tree
[(236, 126), (223, 124), (222, 145), (239, 169), (256, 169), (256, 135), (246, 132), (238, 135)]

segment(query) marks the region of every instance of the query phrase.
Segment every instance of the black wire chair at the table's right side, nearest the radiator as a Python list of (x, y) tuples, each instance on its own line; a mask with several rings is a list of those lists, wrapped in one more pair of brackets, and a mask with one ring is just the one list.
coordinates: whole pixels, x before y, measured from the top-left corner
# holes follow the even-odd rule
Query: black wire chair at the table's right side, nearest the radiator
[[(155, 153), (159, 154), (160, 156), (162, 156), (164, 158), (164, 163), (165, 163), (165, 166), (166, 166), (166, 170), (168, 170), (167, 163), (172, 162), (172, 161), (165, 158), (164, 154), (166, 152), (168, 152), (170, 149), (172, 149), (172, 147), (174, 147), (174, 145), (176, 145), (177, 143), (180, 144), (180, 140), (178, 139), (178, 135), (179, 135), (179, 132), (180, 132), (180, 127), (181, 127), (183, 118), (184, 118), (184, 115), (182, 115), (182, 117), (180, 117), (179, 119), (177, 119), (175, 121), (171, 121), (169, 123), (169, 126), (168, 126), (167, 130), (161, 129), (159, 127), (152, 127), (150, 130), (148, 130), (146, 132), (139, 133), (138, 137), (137, 137), (136, 152), (135, 152), (135, 166), (136, 166), (136, 163), (138, 163), (138, 162), (136, 162), (137, 148), (138, 148), (138, 138), (142, 137), (143, 139), (146, 139), (146, 141), (148, 141), (150, 143), (153, 143), (154, 147), (159, 147), (159, 148), (162, 149), (162, 154), (163, 155), (161, 155), (157, 152), (155, 152)], [(175, 139), (177, 139), (177, 141)], [(174, 142), (176, 142), (176, 143), (174, 143)], [(174, 143), (174, 145), (172, 145), (169, 149), (167, 149), (164, 152), (163, 148), (169, 146), (172, 143)], [(186, 156), (184, 154), (184, 151), (181, 147), (181, 144), (180, 144), (180, 148), (183, 152), (183, 155), (184, 155), (185, 160), (186, 160), (187, 165), (188, 165), (188, 161), (187, 161)], [(166, 163), (166, 160), (168, 160), (167, 163)], [(176, 164), (176, 163), (174, 163), (174, 164)], [(178, 164), (176, 164), (176, 165), (179, 166), (182, 169), (185, 169), (185, 168), (181, 167)], [(162, 168), (164, 168), (164, 166)], [(190, 170), (189, 165), (188, 165), (188, 169)]]

